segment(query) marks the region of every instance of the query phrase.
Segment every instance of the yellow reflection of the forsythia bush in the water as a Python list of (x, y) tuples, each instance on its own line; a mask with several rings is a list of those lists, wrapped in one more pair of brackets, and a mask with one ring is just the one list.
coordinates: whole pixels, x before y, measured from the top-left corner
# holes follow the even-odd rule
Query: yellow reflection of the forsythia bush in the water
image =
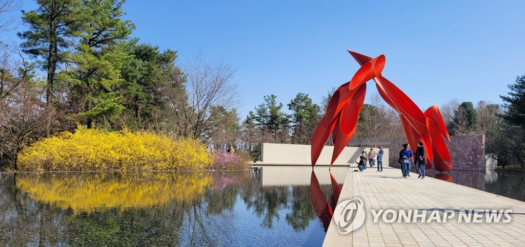
[[(149, 208), (177, 200), (191, 203), (206, 187), (225, 186), (226, 178), (214, 181), (209, 173), (22, 173), (16, 188), (30, 198), (74, 214), (106, 208)], [(232, 178), (229, 178), (232, 179)]]

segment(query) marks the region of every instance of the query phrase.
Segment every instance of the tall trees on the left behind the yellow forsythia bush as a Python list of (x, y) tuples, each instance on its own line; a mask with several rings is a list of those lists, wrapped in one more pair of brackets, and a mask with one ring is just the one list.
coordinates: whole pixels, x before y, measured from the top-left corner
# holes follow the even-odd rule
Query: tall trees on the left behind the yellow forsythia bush
[(181, 63), (177, 51), (131, 38), (137, 27), (124, 2), (37, 0), (18, 27), (6, 16), (21, 1), (0, 2), (0, 32), (15, 29), (22, 40), (0, 40), (0, 168), (79, 125), (209, 142), (238, 121), (236, 69), (203, 52)]

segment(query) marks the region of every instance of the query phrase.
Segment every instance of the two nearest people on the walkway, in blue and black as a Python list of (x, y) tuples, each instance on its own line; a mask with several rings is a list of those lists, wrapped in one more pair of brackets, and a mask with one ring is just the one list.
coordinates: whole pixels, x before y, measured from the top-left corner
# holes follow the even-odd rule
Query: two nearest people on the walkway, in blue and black
[(423, 145), (423, 141), (417, 142), (416, 152), (413, 153), (408, 143), (403, 144), (403, 149), (399, 153), (399, 159), (397, 163), (401, 164), (401, 171), (403, 177), (408, 178), (410, 176), (410, 170), (412, 169), (412, 162), (416, 160), (416, 171), (419, 174), (417, 178), (425, 178), (425, 165), (426, 165), (426, 149)]

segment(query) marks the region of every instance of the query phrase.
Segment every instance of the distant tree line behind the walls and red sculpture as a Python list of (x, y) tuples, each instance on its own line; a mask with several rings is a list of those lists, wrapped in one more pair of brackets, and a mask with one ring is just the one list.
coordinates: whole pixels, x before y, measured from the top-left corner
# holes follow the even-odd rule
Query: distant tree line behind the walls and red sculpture
[[(260, 154), (263, 142), (310, 144), (313, 130), (324, 116), (332, 91), (321, 98), (320, 105), (312, 103), (308, 94), (298, 93), (286, 105), (290, 114), (283, 111), (285, 105), (277, 101), (277, 96), (264, 96), (264, 103), (255, 107), (243, 122), (232, 128), (235, 131), (227, 143), (237, 145), (243, 151), (253, 152), (253, 156)], [(504, 122), (501, 106), (485, 100), (480, 100), (474, 107), (471, 102), (459, 103), (459, 100), (453, 99), (440, 109), (453, 136), (485, 134), (490, 142)], [(384, 140), (404, 137), (396, 111), (387, 106), (380, 95), (372, 95), (370, 103), (363, 105), (353, 138)], [(331, 138), (327, 144), (333, 144)]]

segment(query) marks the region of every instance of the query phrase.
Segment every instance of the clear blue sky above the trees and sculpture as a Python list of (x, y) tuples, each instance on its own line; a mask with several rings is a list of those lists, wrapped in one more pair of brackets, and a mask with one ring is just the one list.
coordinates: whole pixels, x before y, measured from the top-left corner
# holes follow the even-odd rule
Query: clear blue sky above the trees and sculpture
[[(320, 102), (359, 68), (346, 49), (385, 54), (383, 75), (423, 110), (453, 98), (501, 103), (525, 74), (525, 1), (128, 0), (124, 10), (142, 42), (181, 60), (202, 48), (237, 67), (241, 119), (264, 95)], [(376, 92), (370, 81), (367, 98)]]

